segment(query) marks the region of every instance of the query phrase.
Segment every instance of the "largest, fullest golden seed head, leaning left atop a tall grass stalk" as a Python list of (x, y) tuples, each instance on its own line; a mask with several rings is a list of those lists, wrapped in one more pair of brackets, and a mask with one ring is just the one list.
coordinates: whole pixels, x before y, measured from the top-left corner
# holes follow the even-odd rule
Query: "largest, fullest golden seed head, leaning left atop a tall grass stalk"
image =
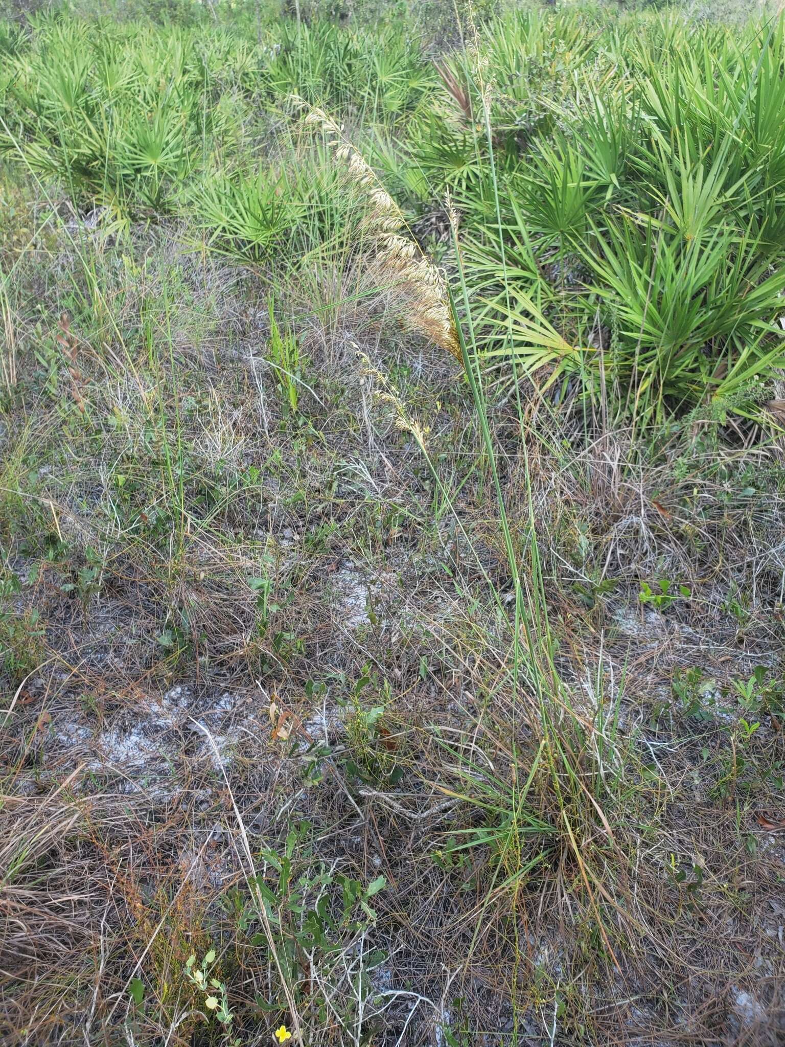
[[(294, 101), (295, 105), (305, 106), (301, 99)], [(457, 326), (444, 279), (418, 244), (403, 236), (406, 220), (401, 208), (362, 153), (323, 110), (310, 109), (304, 125), (324, 132), (328, 146), (336, 158), (345, 163), (347, 178), (366, 195), (369, 206), (362, 228), (374, 245), (374, 264), (381, 273), (395, 276), (396, 290), (410, 307), (410, 327), (463, 363)]]

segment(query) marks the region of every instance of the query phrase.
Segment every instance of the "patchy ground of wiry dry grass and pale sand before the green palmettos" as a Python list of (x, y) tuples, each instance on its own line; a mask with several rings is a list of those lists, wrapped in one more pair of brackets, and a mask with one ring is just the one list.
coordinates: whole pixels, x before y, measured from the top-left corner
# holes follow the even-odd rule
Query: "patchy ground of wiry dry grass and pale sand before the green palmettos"
[[(23, 305), (35, 283), (59, 317), (58, 280), (37, 259), (16, 296), (4, 570), (43, 647), (4, 677), (4, 1042), (218, 1043), (184, 975), (209, 949), (241, 1042), (293, 1027), (243, 843), (272, 887), (293, 832), (271, 912), (309, 1044), (778, 1043), (777, 447), (717, 423), (647, 446), (539, 405), (543, 721), (525, 674), (513, 701), (487, 588), (503, 606), (511, 579), (454, 365), (378, 297), (314, 312), (292, 418), (253, 280), (96, 259), (120, 306), (69, 321), (78, 398), (62, 325)], [(517, 420), (490, 415), (529, 571)], [(659, 579), (690, 597), (642, 604)], [(769, 704), (741, 709), (759, 664)], [(672, 690), (690, 666), (694, 708)], [(359, 929), (339, 875), (384, 876)], [(317, 897), (335, 953), (297, 938)]]

